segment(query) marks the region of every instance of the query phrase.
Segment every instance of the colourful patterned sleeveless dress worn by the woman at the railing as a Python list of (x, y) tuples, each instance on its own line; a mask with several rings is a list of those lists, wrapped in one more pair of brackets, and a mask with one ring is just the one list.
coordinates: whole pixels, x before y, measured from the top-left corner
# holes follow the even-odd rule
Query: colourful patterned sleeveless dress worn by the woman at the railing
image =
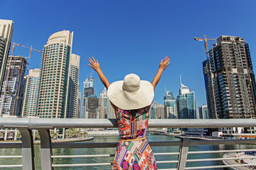
[(113, 161), (113, 170), (155, 170), (154, 152), (146, 140), (149, 108), (116, 113), (119, 143)]

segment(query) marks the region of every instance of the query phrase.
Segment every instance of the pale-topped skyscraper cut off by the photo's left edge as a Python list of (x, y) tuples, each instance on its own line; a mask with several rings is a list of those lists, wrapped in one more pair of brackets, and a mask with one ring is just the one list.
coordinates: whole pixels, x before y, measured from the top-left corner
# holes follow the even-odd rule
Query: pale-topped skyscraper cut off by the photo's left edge
[(9, 55), (14, 22), (0, 19), (0, 89), (4, 81), (4, 71)]

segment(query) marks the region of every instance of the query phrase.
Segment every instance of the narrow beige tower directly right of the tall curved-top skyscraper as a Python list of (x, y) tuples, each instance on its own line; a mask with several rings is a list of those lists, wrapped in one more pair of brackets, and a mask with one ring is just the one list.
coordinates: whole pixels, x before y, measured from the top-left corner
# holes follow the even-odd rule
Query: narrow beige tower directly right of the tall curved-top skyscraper
[(78, 115), (78, 77), (80, 56), (72, 54), (70, 57), (69, 83), (68, 83), (68, 106), (66, 118), (77, 118)]

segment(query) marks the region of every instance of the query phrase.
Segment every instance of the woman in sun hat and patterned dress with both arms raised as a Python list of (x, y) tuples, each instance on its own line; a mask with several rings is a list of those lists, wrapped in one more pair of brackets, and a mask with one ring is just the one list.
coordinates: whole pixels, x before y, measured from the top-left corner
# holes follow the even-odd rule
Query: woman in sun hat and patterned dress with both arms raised
[(119, 128), (120, 141), (113, 160), (114, 170), (157, 169), (154, 152), (146, 140), (149, 108), (154, 98), (154, 89), (162, 72), (169, 65), (169, 57), (161, 60), (153, 81), (142, 81), (136, 74), (128, 74), (124, 81), (110, 84), (100, 69), (98, 61), (89, 58), (90, 67), (95, 69), (107, 88), (107, 96), (114, 108)]

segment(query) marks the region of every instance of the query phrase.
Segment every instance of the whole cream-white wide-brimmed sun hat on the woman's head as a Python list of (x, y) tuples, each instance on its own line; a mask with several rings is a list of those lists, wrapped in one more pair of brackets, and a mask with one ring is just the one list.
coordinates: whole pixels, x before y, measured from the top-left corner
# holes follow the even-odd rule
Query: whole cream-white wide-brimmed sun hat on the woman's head
[(127, 74), (123, 81), (110, 84), (107, 96), (117, 108), (134, 110), (151, 105), (154, 88), (149, 81), (140, 80), (136, 74)]

